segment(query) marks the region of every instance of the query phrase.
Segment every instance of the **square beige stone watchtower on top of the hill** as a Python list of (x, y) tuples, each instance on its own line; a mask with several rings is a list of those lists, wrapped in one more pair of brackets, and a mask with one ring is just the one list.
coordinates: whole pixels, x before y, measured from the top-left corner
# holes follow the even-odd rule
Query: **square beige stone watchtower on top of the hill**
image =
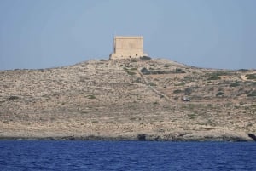
[(114, 37), (113, 54), (110, 54), (110, 60), (140, 58), (143, 56), (147, 56), (147, 54), (143, 53), (143, 37)]

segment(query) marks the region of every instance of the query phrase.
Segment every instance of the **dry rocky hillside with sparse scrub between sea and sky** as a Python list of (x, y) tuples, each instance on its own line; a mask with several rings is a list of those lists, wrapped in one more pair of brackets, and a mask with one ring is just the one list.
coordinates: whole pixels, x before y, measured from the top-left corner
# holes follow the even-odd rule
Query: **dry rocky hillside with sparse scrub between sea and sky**
[(0, 71), (0, 136), (252, 140), (255, 77), (170, 60)]

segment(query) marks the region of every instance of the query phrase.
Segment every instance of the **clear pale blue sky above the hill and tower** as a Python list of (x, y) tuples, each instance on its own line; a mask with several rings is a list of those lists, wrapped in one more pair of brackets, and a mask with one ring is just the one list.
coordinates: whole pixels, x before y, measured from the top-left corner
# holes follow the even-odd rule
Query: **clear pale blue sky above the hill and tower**
[(190, 66), (256, 68), (255, 0), (0, 0), (0, 70), (108, 59), (114, 35)]

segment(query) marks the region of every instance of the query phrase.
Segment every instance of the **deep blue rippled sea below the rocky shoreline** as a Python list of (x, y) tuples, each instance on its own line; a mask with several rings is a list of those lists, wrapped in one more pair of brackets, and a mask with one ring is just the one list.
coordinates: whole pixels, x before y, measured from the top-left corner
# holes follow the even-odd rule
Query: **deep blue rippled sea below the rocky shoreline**
[(256, 170), (256, 143), (1, 140), (0, 170)]

